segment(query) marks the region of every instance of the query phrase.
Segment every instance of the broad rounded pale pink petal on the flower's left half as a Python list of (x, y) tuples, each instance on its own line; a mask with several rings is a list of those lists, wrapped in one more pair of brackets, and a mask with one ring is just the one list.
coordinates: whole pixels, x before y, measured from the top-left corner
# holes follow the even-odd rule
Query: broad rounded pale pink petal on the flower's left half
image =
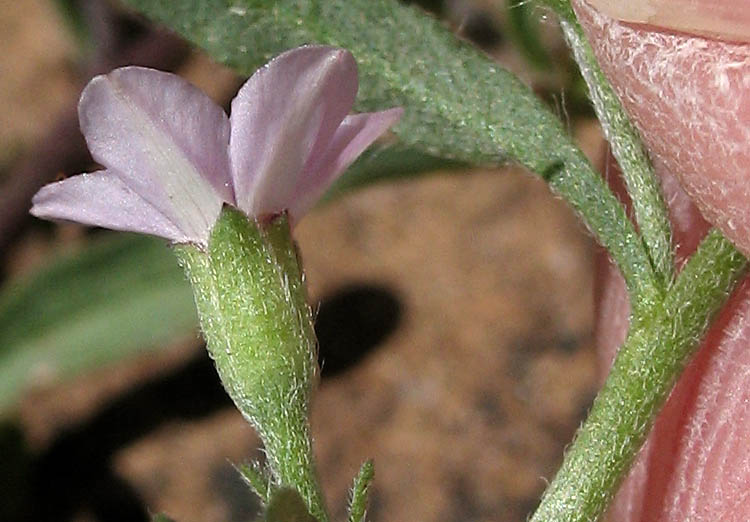
[(78, 105), (93, 158), (185, 236), (207, 241), (229, 178), (229, 121), (182, 78), (142, 67), (97, 76)]

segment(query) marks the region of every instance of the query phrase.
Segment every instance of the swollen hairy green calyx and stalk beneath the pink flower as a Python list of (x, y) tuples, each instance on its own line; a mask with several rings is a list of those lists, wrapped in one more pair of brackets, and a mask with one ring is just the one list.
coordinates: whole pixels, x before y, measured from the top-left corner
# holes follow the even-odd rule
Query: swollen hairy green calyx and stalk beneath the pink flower
[(259, 224), (227, 207), (207, 251), (175, 251), (216, 370), (263, 440), (275, 485), (298, 491), (327, 522), (308, 422), (317, 345), (286, 218)]

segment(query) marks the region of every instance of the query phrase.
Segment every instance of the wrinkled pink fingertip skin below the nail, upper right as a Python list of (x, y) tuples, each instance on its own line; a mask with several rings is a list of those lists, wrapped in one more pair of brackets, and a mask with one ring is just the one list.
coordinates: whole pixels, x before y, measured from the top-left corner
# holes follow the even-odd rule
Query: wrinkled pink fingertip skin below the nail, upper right
[(657, 169), (677, 176), (703, 216), (750, 254), (750, 43), (626, 24), (574, 4)]

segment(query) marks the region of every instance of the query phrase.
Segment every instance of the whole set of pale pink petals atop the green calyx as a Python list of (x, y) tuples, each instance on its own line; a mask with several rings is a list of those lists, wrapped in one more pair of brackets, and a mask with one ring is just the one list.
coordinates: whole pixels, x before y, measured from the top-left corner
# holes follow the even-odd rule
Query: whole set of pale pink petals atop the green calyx
[(305, 46), (259, 69), (232, 115), (173, 74), (124, 67), (78, 105), (105, 170), (43, 187), (31, 213), (206, 245), (221, 208), (294, 222), (402, 114), (348, 115), (357, 67), (344, 49)]

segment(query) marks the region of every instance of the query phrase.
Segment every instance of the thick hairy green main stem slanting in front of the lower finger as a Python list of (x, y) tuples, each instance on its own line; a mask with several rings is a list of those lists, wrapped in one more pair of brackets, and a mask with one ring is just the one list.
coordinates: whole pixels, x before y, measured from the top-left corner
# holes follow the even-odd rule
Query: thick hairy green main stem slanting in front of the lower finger
[(532, 522), (592, 522), (609, 502), (653, 420), (747, 261), (712, 230), (664, 302), (634, 322), (604, 388)]

